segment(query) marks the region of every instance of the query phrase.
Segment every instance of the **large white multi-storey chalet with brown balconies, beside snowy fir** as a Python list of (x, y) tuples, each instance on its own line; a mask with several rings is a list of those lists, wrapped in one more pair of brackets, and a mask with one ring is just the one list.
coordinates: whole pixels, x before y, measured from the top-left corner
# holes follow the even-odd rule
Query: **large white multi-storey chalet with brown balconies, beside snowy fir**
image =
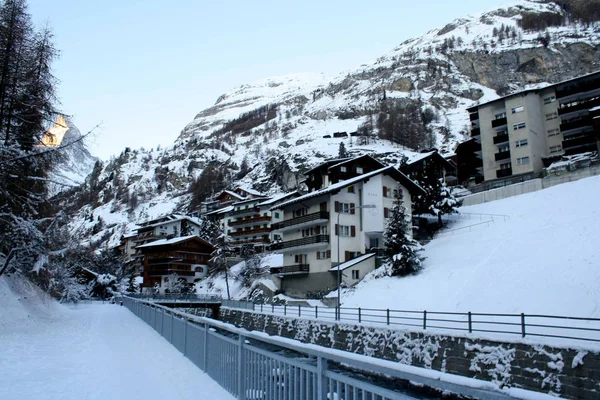
[(306, 182), (308, 194), (277, 206), (283, 221), (273, 224), (273, 232), (282, 240), (271, 245), (284, 259), (271, 273), (281, 278), (287, 294), (300, 297), (334, 289), (340, 272), (356, 283), (372, 271), (376, 254), (383, 252), (395, 192), (402, 191), (408, 215), (411, 196), (423, 192), (398, 169), (370, 156), (325, 162), (308, 172)]

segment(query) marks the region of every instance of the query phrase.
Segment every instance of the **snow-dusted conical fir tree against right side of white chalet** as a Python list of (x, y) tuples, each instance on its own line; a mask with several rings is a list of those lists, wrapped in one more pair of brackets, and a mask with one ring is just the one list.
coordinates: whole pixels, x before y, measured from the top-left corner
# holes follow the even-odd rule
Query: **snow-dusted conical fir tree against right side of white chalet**
[(400, 188), (397, 193), (398, 196), (385, 228), (384, 244), (389, 257), (389, 275), (406, 276), (421, 270), (424, 258), (419, 253), (423, 248), (411, 236), (411, 224), (402, 205)]

